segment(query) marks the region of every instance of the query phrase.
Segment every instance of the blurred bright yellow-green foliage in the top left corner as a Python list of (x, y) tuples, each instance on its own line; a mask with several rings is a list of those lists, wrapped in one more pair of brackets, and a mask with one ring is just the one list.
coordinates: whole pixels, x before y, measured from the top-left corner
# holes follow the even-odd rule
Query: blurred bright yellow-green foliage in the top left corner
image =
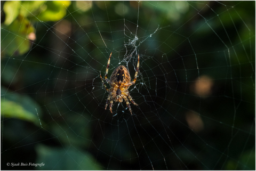
[(34, 22), (58, 21), (65, 17), (70, 1), (7, 1), (3, 5), (1, 54), (22, 55), (36, 39)]

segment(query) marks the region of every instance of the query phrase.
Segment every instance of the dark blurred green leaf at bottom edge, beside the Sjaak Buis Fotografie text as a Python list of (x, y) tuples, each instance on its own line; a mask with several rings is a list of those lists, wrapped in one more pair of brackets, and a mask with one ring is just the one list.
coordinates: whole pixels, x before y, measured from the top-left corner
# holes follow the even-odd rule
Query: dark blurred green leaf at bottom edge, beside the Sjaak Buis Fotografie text
[(65, 148), (38, 145), (36, 163), (44, 164), (41, 170), (100, 170), (103, 169), (95, 158), (82, 149), (73, 146)]

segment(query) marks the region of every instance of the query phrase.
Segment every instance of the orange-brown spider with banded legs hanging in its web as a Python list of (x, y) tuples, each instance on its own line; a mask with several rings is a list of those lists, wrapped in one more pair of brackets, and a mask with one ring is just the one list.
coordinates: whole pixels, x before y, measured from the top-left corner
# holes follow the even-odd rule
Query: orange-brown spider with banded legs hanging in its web
[(112, 112), (113, 101), (123, 102), (123, 99), (124, 99), (124, 101), (126, 102), (127, 107), (129, 108), (129, 110), (131, 112), (131, 115), (132, 115), (132, 109), (131, 109), (129, 100), (134, 105), (138, 105), (138, 104), (135, 103), (132, 100), (132, 97), (131, 97), (131, 95), (128, 91), (128, 88), (136, 82), (137, 74), (138, 74), (138, 71), (139, 71), (140, 56), (138, 55), (138, 63), (137, 63), (136, 72), (135, 72), (135, 75), (134, 75), (134, 79), (131, 82), (130, 73), (129, 73), (129, 71), (127, 70), (127, 68), (125, 66), (117, 67), (113, 71), (113, 73), (111, 74), (110, 80), (108, 79), (108, 69), (109, 69), (111, 54), (110, 54), (109, 59), (108, 59), (106, 75), (105, 75), (105, 80), (110, 85), (110, 88), (107, 88), (107, 85), (104, 83), (104, 80), (100, 75), (103, 86), (105, 87), (106, 91), (109, 92), (108, 99), (107, 99), (106, 106), (105, 106), (105, 110), (107, 109), (108, 103), (109, 103), (109, 108), (110, 108), (109, 110), (110, 110), (111, 113), (113, 113)]

